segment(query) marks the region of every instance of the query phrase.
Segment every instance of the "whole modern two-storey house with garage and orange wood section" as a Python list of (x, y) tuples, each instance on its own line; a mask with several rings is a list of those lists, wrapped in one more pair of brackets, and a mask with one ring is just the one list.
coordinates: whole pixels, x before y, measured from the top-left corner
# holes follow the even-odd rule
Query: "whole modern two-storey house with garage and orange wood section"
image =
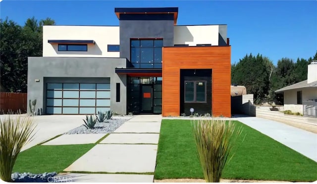
[(231, 116), (227, 25), (176, 25), (177, 7), (114, 11), (119, 26), (43, 27), (43, 57), (28, 58), (36, 108)]

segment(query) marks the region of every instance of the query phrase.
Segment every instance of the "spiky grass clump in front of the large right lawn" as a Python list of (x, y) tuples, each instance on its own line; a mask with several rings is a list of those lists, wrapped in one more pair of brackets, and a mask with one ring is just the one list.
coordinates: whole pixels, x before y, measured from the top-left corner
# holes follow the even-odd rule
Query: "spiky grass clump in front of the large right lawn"
[(193, 120), (192, 129), (206, 182), (218, 183), (241, 128), (225, 120)]

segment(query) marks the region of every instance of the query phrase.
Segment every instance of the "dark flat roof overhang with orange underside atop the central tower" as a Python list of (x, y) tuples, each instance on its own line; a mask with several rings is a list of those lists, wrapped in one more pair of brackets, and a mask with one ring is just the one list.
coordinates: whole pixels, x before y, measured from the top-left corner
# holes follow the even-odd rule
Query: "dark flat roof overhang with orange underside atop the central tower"
[(114, 12), (120, 20), (120, 14), (174, 14), (174, 25), (177, 23), (178, 7), (116, 7)]

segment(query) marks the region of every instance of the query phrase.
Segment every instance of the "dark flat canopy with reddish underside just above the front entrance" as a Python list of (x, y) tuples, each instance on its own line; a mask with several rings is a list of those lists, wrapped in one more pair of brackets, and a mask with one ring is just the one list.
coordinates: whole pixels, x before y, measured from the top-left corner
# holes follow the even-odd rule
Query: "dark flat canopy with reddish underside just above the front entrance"
[(133, 77), (161, 77), (162, 69), (160, 68), (115, 68), (115, 73), (118, 74), (127, 74), (128, 76)]

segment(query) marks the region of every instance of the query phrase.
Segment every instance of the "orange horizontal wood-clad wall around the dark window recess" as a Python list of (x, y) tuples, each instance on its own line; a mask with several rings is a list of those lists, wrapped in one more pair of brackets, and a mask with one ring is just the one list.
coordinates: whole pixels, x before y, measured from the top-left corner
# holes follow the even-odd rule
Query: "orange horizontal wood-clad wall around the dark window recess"
[(165, 47), (162, 60), (162, 116), (180, 115), (180, 69), (212, 69), (212, 115), (231, 117), (231, 46)]

